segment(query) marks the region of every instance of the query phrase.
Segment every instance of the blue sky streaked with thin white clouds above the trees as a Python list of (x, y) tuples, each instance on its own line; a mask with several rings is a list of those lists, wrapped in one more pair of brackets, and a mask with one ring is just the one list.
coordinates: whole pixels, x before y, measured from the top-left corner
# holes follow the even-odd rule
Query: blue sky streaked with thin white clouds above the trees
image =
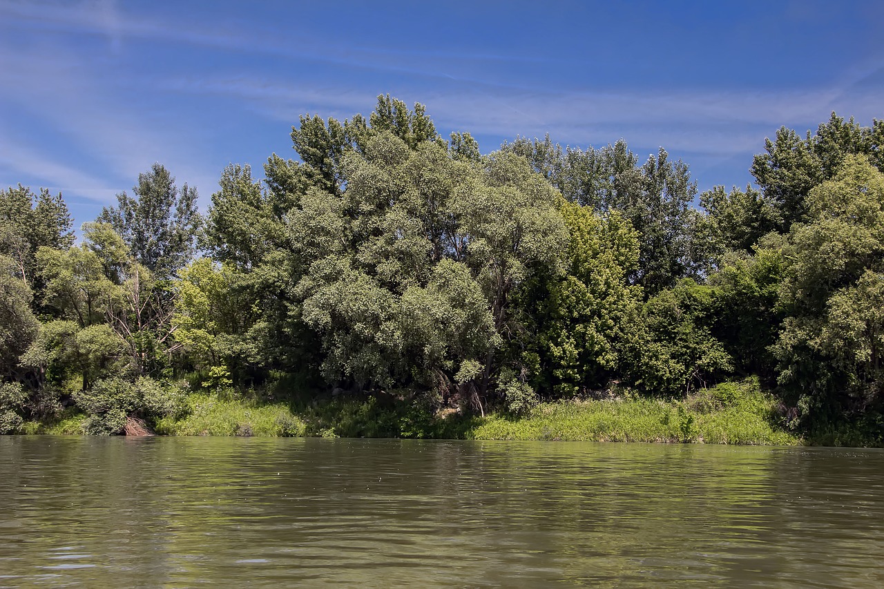
[(420, 102), (483, 152), (516, 135), (660, 146), (701, 189), (782, 125), (884, 118), (880, 2), (0, 0), (0, 186), (76, 225), (160, 162), (204, 208), (225, 165), (294, 157), (302, 113)]

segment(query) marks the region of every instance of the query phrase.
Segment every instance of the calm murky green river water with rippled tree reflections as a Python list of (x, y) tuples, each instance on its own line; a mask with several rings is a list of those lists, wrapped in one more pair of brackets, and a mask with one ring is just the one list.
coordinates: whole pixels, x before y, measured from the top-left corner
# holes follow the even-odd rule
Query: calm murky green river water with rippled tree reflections
[(0, 586), (884, 586), (880, 450), (0, 437)]

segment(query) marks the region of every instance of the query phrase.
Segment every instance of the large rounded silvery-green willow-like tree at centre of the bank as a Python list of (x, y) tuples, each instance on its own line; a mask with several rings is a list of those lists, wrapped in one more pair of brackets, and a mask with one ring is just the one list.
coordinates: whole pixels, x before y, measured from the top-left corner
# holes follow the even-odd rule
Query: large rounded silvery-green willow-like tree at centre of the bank
[(309, 190), (287, 218), (326, 379), (490, 394), (511, 297), (564, 245), (554, 190), (510, 154), (476, 166), (389, 132), (343, 169), (342, 195)]

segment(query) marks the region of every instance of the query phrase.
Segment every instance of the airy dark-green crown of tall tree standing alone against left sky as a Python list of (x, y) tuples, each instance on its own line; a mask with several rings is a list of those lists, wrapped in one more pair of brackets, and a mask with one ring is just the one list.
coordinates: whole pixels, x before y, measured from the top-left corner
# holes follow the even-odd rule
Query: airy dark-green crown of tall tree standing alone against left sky
[(105, 207), (98, 220), (126, 241), (136, 262), (171, 279), (194, 256), (202, 218), (196, 210), (196, 188), (180, 188), (162, 164), (138, 175), (134, 196), (117, 195), (117, 207)]

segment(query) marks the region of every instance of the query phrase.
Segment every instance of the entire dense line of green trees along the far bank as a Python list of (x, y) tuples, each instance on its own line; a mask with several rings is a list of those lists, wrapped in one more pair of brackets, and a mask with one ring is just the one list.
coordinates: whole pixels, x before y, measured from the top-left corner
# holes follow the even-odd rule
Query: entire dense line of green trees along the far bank
[(0, 432), (69, 407), (121, 432), (194, 389), (484, 414), (756, 376), (789, 427), (880, 436), (884, 121), (784, 127), (758, 189), (699, 210), (664, 149), (483, 155), (389, 96), (292, 140), (263, 180), (225, 169), (205, 218), (155, 164), (79, 244), (61, 195), (0, 193)]

